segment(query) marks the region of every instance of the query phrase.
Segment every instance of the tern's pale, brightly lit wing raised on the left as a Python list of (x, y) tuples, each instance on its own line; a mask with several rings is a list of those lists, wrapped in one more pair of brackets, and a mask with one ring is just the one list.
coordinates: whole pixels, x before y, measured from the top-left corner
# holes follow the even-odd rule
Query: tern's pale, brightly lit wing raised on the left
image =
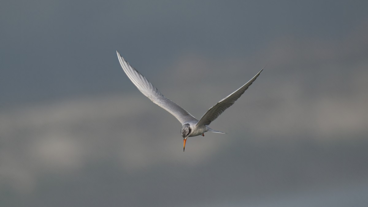
[(126, 62), (123, 57), (121, 57), (119, 52), (116, 51), (116, 53), (125, 74), (127, 74), (128, 78), (133, 82), (138, 90), (142, 92), (143, 95), (148, 97), (153, 103), (156, 103), (174, 115), (181, 124), (184, 124), (188, 121), (198, 122), (198, 119), (187, 112), (187, 110), (183, 109), (170, 99), (164, 97), (156, 87), (154, 87), (144, 76), (142, 76), (142, 74), (130, 66), (130, 64)]

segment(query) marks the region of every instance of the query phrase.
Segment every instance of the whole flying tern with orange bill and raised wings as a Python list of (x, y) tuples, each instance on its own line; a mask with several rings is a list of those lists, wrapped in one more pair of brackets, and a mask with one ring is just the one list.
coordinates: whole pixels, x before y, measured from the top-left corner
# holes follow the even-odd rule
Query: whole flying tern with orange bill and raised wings
[(201, 119), (198, 120), (187, 110), (177, 105), (170, 99), (164, 97), (164, 95), (162, 95), (162, 93), (147, 80), (147, 78), (134, 69), (134, 67), (130, 66), (130, 64), (124, 60), (117, 50), (116, 53), (120, 62), (120, 66), (123, 68), (125, 74), (127, 74), (132, 83), (138, 88), (138, 90), (141, 91), (142, 94), (149, 98), (153, 103), (156, 103), (175, 116), (176, 119), (178, 119), (182, 124), (180, 133), (184, 140), (183, 151), (185, 151), (185, 142), (187, 141), (188, 137), (199, 135), (204, 136), (206, 131), (225, 134), (222, 131), (211, 129), (208, 125), (218, 116), (220, 116), (225, 109), (233, 105), (234, 102), (240, 98), (241, 95), (243, 95), (244, 91), (248, 89), (248, 87), (255, 81), (262, 70), (266, 67), (263, 67), (261, 71), (259, 71), (251, 80), (241, 86), (238, 90), (232, 92), (230, 95), (221, 99), (211, 108), (209, 108), (208, 111), (201, 117)]

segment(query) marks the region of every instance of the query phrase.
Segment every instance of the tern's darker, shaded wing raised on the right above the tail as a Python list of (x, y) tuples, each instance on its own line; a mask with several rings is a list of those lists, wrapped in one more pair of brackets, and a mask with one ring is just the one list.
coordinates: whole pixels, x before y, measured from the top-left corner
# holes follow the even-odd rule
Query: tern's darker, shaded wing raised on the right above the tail
[(248, 87), (253, 83), (253, 81), (259, 76), (262, 70), (259, 71), (259, 73), (257, 73), (251, 80), (249, 80), (248, 83), (244, 84), (238, 90), (234, 91), (226, 98), (217, 102), (210, 109), (208, 109), (208, 111), (201, 117), (201, 119), (199, 119), (199, 122), (197, 123), (196, 126), (203, 126), (210, 124), (213, 120), (215, 120), (218, 116), (220, 116), (220, 114), (224, 112), (225, 109), (233, 105), (234, 102), (238, 100), (238, 98), (244, 93), (244, 91), (247, 90)]

